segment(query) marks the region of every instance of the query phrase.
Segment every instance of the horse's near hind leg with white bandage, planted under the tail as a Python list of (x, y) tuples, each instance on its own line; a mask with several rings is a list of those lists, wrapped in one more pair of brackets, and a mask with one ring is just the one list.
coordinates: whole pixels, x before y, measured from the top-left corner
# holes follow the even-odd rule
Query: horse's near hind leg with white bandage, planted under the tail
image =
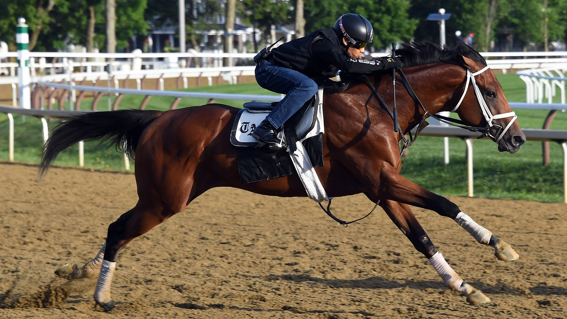
[(111, 298), (112, 276), (116, 268), (116, 256), (119, 251), (134, 238), (145, 234), (156, 225), (174, 215), (168, 209), (156, 208), (154, 204), (141, 204), (122, 214), (108, 226), (108, 236), (101, 262), (99, 279), (96, 283), (94, 299), (105, 311), (115, 307)]

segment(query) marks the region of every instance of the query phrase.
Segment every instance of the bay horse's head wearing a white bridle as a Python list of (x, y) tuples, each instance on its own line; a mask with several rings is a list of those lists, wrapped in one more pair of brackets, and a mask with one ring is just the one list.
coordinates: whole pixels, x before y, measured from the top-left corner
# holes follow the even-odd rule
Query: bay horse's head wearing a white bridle
[(516, 121), (517, 116), (510, 109), (498, 83), (496, 75), (483, 64), (463, 57), (470, 72), (467, 71), (466, 91), (456, 110), (460, 119), (477, 127), (486, 127), (489, 136), (498, 144), (500, 152), (518, 152), (526, 141)]

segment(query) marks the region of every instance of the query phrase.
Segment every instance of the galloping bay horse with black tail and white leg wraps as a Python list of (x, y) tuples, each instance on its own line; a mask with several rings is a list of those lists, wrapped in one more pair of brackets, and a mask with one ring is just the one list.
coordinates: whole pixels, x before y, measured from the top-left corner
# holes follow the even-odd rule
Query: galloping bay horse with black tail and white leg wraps
[[(494, 73), (480, 54), (459, 44), (454, 49), (412, 42), (397, 51), (420, 103), (404, 85), (396, 87), (401, 133), (407, 134), (424, 117), (454, 111), (462, 123), (485, 129), (501, 152), (515, 153), (526, 140)], [(449, 217), (477, 242), (493, 247), (505, 261), (519, 256), (488, 229), (475, 223), (459, 207), (402, 177), (400, 146), (389, 104), (393, 100), (393, 75), (371, 74), (368, 83), (353, 80), (336, 93), (323, 97), (324, 166), (315, 169), (332, 197), (363, 193), (379, 203), (417, 251), (429, 259), (449, 288), (467, 296), (471, 304), (490, 301), (463, 281), (435, 249), (412, 213), (411, 205)], [(396, 81), (401, 78), (396, 75)], [(373, 87), (370, 86), (370, 83)], [(384, 97), (382, 105), (376, 93)], [(47, 141), (40, 177), (61, 150), (81, 140), (115, 142), (117, 148), (136, 155), (138, 202), (108, 226), (107, 240), (99, 253), (82, 268), (61, 268), (68, 279), (94, 277), (94, 299), (109, 311), (114, 306), (111, 281), (116, 256), (128, 242), (184, 211), (189, 203), (213, 187), (236, 187), (270, 196), (307, 196), (298, 175), (243, 183), (239, 178), (237, 148), (229, 135), (238, 108), (207, 104), (171, 111), (119, 110), (78, 115), (61, 124)], [(511, 119), (510, 119), (511, 117)]]

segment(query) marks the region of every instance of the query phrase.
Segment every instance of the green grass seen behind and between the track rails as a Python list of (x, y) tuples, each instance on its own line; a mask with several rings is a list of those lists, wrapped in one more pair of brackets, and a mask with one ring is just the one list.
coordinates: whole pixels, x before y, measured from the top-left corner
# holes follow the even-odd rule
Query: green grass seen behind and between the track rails
[[(507, 99), (510, 102), (525, 102), (526, 86), (513, 74), (497, 75)], [(261, 89), (256, 83), (239, 85), (216, 85), (192, 87), (184, 91), (211, 93), (274, 94)], [(115, 96), (111, 96), (111, 102)], [(120, 108), (138, 108), (143, 96), (126, 95)], [(205, 104), (208, 99), (184, 98), (178, 108)], [(174, 98), (153, 96), (147, 109), (168, 110)], [(91, 100), (82, 102), (82, 110), (90, 110)], [(215, 100), (217, 103), (240, 107), (242, 100)], [(554, 101), (558, 103), (558, 101)], [(98, 110), (108, 110), (107, 96), (98, 103)], [(548, 111), (517, 110), (518, 122), (522, 128), (541, 128)], [(27, 116), (15, 116), (15, 161), (38, 163), (43, 141), (41, 121)], [(49, 122), (50, 129), (57, 120)], [(558, 112), (552, 129), (567, 129), (567, 113)], [(332, 129), (332, 128), (327, 128)], [(0, 136), (8, 136), (7, 116), (0, 115)], [(450, 165), (443, 163), (443, 140), (436, 137), (419, 137), (409, 148), (409, 156), (403, 158), (401, 174), (430, 191), (441, 195), (467, 195), (467, 166), (464, 142), (450, 138)], [(475, 196), (485, 198), (514, 198), (562, 202), (562, 152), (558, 144), (551, 143), (551, 164), (541, 165), (541, 142), (526, 142), (518, 153), (500, 153), (497, 145), (489, 140), (474, 141)], [(85, 166), (96, 169), (123, 170), (121, 153), (112, 147), (97, 143), (85, 143)], [(8, 159), (7, 138), (0, 140), (0, 159)], [(62, 152), (55, 165), (77, 166), (78, 146)]]

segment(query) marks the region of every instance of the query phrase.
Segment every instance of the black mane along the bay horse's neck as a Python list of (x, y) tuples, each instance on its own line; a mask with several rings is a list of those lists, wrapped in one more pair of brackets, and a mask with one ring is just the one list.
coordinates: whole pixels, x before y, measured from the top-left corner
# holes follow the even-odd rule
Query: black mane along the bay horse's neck
[[(476, 52), (475, 49), (469, 47), (464, 42), (457, 43), (454, 48), (440, 48), (439, 45), (429, 41), (409, 41), (401, 45), (396, 50), (396, 56), (400, 57), (402, 67), (419, 66), (425, 64), (433, 64), (438, 62), (446, 62), (458, 65), (464, 65), (464, 57), (468, 57), (473, 61), (486, 65), (486, 60)], [(373, 75), (384, 74), (388, 71), (378, 71)], [(360, 75), (341, 73), (342, 82), (324, 82), (319, 83), (328, 93), (342, 92), (353, 84), (363, 81)]]

